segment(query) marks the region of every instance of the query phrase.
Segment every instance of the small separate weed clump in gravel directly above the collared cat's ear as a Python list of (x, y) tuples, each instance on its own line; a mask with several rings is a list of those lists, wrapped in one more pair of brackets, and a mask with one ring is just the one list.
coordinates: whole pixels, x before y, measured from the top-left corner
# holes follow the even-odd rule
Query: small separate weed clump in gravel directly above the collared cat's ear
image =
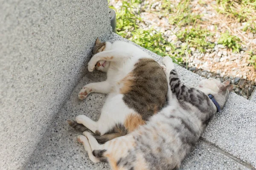
[(233, 51), (239, 52), (241, 45), (239, 44), (239, 37), (231, 35), (228, 31), (221, 34), (220, 39), (218, 40), (218, 44), (222, 44), (227, 48), (232, 48)]

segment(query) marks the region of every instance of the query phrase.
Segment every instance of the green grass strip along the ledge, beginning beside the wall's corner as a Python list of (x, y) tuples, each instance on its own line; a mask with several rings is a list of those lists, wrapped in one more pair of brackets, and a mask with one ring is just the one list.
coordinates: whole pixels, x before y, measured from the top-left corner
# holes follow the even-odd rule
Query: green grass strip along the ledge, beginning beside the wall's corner
[[(114, 8), (116, 11), (117, 34), (160, 56), (170, 56), (174, 62), (181, 63), (181, 57), (174, 57), (166, 51), (166, 47), (170, 47), (174, 50), (174, 45), (164, 40), (161, 33), (153, 29), (143, 30), (137, 26), (137, 23), (141, 22), (139, 16), (140, 10), (138, 8), (140, 2), (140, 0), (122, 1), (120, 9)], [(130, 34), (128, 34), (128, 32), (130, 32)]]

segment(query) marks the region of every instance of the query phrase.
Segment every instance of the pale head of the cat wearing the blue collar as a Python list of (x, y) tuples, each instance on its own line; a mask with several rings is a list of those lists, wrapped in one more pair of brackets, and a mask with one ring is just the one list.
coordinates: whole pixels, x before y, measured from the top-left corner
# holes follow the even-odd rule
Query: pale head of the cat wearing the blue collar
[(233, 85), (230, 85), (230, 80), (221, 82), (217, 79), (209, 78), (203, 79), (198, 84), (198, 90), (203, 91), (206, 95), (212, 94), (221, 108), (224, 107), (227, 102), (230, 91), (232, 91)]

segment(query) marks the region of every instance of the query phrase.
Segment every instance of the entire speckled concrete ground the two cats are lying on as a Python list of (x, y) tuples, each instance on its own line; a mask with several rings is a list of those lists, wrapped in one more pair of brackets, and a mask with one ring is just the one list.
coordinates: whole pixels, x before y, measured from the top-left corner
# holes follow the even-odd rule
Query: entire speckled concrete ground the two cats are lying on
[[(111, 34), (109, 41), (115, 40), (128, 41)], [(161, 62), (160, 56), (147, 52)], [(202, 79), (178, 65), (175, 68), (186, 85), (195, 86)], [(81, 133), (73, 130), (66, 122), (79, 114), (85, 114), (93, 120), (99, 118), (106, 95), (94, 93), (80, 101), (77, 94), (85, 84), (104, 79), (105, 74), (94, 71), (80, 80), (24, 169), (110, 169), (108, 164), (94, 164), (88, 159), (84, 148), (76, 141), (76, 136)], [(256, 103), (231, 93), (222, 113), (215, 115), (180, 169), (256, 170)]]

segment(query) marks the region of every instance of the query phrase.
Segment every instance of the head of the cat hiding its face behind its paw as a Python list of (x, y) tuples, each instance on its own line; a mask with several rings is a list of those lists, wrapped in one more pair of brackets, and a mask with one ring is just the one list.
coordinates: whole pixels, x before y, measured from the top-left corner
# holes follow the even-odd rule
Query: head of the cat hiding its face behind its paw
[[(99, 38), (97, 38), (95, 45), (93, 47), (93, 55), (99, 52), (105, 51), (107, 45), (108, 44), (106, 42), (101, 42)], [(109, 65), (110, 65), (109, 61), (101, 60), (96, 63), (95, 69), (98, 71), (107, 72)]]

